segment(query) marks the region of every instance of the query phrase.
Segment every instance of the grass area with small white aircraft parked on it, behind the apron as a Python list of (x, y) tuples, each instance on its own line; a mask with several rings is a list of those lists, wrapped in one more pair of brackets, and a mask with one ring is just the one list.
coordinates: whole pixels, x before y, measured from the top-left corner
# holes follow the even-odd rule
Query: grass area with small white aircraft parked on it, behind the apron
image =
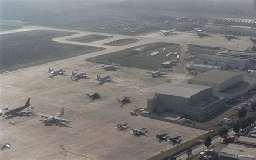
[[(173, 55), (167, 58), (166, 54), (169, 52), (174, 53), (179, 49), (180, 46), (173, 43), (149, 43), (143, 45), (142, 47), (144, 47), (142, 52), (133, 51), (133, 49), (138, 48), (133, 47), (126, 50), (89, 58), (87, 61), (103, 64), (111, 64), (114, 62), (126, 67), (157, 69), (161, 68), (162, 62), (176, 59), (176, 57)], [(163, 48), (166, 49), (164, 52)], [(159, 51), (160, 54), (155, 57), (151, 57), (150, 54), (154, 51)]]

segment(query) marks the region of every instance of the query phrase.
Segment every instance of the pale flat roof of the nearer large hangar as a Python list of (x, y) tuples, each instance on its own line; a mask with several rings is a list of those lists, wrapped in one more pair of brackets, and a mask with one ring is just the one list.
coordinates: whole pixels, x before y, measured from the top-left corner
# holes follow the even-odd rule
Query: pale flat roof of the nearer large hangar
[(209, 88), (212, 87), (181, 83), (173, 86), (167, 86), (156, 93), (190, 98), (191, 96), (196, 95), (197, 93)]

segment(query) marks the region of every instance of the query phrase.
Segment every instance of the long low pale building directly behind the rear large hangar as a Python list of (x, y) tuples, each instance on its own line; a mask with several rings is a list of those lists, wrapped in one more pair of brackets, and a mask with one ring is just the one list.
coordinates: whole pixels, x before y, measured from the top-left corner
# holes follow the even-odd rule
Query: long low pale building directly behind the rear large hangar
[(200, 54), (194, 60), (194, 64), (205, 64), (226, 67), (228, 69), (245, 70), (250, 64), (250, 60), (242, 58), (232, 58), (220, 55)]

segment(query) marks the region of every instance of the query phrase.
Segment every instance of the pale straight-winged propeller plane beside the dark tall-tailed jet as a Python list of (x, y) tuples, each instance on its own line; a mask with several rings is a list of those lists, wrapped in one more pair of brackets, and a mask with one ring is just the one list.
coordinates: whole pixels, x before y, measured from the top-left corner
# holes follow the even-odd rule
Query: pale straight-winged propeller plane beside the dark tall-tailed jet
[(45, 117), (45, 119), (43, 120), (45, 125), (48, 125), (50, 123), (59, 123), (59, 122), (69, 123), (69, 122), (71, 122), (70, 120), (61, 118), (63, 115), (66, 115), (66, 113), (64, 112), (64, 107), (62, 107), (62, 110), (60, 111), (60, 113), (57, 113), (56, 116), (50, 116), (50, 115), (45, 115), (45, 114), (40, 114), (40, 113), (37, 113), (37, 114), (41, 115), (42, 117)]

